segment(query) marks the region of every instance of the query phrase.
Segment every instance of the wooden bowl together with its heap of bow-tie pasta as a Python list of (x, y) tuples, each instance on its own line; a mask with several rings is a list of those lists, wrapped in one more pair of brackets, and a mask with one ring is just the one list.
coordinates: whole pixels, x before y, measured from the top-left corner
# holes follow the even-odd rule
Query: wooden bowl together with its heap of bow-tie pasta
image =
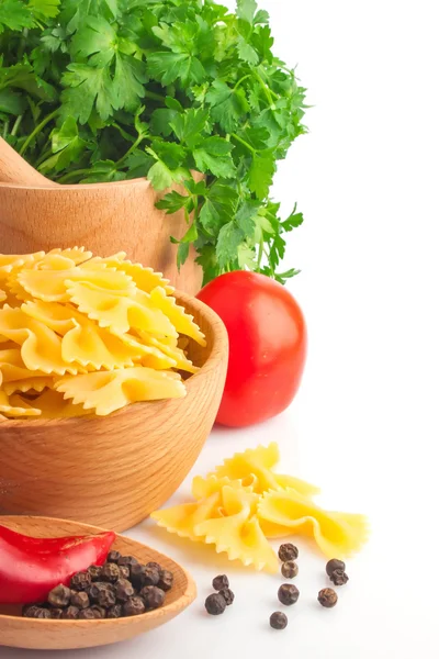
[(0, 256), (0, 511), (128, 528), (201, 451), (225, 327), (124, 255), (20, 258)]

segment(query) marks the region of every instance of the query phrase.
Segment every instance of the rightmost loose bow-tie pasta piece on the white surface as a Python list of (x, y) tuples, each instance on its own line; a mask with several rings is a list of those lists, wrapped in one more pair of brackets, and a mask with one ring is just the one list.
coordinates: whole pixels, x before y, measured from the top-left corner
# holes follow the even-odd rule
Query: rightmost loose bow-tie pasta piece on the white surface
[(363, 515), (326, 512), (295, 490), (266, 492), (258, 517), (267, 537), (312, 536), (327, 557), (350, 556), (369, 535)]

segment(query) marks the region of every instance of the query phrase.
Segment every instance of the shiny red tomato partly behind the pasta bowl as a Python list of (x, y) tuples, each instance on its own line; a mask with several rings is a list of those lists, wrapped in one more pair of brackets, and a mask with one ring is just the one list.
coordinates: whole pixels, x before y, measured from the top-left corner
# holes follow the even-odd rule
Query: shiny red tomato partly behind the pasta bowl
[(216, 422), (259, 423), (289, 406), (301, 383), (306, 325), (291, 293), (255, 272), (228, 272), (198, 294), (227, 327), (227, 380)]

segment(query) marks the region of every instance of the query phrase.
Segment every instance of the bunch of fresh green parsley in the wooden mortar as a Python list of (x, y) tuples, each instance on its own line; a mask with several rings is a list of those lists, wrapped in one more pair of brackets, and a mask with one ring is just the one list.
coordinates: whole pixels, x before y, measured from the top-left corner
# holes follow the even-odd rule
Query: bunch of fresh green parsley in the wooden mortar
[(212, 0), (0, 0), (0, 134), (59, 182), (182, 183), (158, 203), (184, 209), (179, 265), (193, 243), (205, 282), (239, 268), (284, 282), (297, 272), (278, 270), (284, 234), (303, 219), (282, 221), (269, 191), (305, 132), (305, 90), (274, 57), (268, 19), (255, 0), (236, 13)]

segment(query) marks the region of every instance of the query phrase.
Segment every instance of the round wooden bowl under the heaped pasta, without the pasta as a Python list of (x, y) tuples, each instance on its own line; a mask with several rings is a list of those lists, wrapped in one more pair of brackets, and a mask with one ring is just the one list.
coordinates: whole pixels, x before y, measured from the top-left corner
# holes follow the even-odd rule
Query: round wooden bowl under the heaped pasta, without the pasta
[(205, 304), (177, 294), (206, 335), (183, 399), (106, 417), (0, 421), (0, 514), (46, 515), (124, 530), (160, 507), (194, 465), (219, 406), (227, 332)]

